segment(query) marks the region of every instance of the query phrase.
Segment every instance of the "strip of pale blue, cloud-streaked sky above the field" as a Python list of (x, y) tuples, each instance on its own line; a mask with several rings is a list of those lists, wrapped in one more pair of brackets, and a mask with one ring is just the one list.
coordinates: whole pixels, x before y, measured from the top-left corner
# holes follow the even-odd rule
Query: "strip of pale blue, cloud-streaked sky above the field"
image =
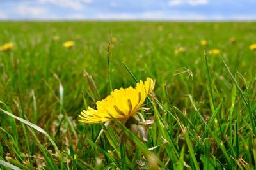
[(0, 20), (256, 20), (256, 0), (0, 0)]

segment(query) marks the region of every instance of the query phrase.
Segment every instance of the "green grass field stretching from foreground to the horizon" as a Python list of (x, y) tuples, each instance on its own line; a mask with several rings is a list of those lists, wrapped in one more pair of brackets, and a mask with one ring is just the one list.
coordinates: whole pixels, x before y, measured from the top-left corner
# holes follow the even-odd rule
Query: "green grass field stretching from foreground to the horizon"
[[(8, 42), (0, 169), (256, 168), (255, 22), (0, 22)], [(78, 121), (147, 77), (147, 142), (118, 120)]]

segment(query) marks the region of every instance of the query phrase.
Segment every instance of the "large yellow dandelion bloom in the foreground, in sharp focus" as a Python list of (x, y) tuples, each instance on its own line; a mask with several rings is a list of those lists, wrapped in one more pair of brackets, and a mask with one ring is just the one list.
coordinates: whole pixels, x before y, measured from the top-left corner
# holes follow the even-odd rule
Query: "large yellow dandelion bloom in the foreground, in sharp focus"
[(113, 120), (112, 117), (118, 120), (136, 117), (147, 95), (153, 89), (154, 81), (151, 78), (147, 78), (144, 83), (140, 80), (135, 88), (115, 89), (106, 99), (97, 101), (97, 110), (90, 107), (87, 110), (83, 110), (79, 115), (80, 121), (87, 124), (95, 124), (111, 121)]

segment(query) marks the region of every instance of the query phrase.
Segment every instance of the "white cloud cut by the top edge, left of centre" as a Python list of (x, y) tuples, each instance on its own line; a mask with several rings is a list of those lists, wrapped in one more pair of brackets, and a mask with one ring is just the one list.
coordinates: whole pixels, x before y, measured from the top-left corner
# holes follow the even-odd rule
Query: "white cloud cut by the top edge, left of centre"
[(83, 10), (84, 4), (92, 3), (92, 0), (37, 0), (40, 3), (51, 3), (64, 8), (73, 10)]

